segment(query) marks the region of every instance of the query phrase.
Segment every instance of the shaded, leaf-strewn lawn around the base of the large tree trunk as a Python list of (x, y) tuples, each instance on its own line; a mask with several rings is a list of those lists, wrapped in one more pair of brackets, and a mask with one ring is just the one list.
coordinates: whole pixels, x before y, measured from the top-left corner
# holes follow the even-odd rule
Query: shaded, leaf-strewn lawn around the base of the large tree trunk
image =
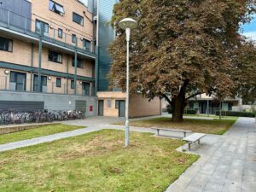
[[(131, 121), (130, 125), (138, 127), (182, 129), (194, 132), (222, 135), (225, 131), (229, 130), (230, 126), (235, 122), (236, 119), (184, 119), (183, 123), (173, 123), (171, 118), (163, 117)], [(116, 125), (124, 125), (124, 123), (118, 123)]]

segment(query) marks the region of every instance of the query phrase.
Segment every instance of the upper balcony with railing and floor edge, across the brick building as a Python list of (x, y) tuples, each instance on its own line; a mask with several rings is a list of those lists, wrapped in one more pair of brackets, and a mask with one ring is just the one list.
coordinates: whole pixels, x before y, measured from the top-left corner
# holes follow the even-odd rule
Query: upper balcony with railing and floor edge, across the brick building
[[(71, 34), (64, 32), (64, 30), (60, 34), (60, 31), (55, 29), (59, 27), (55, 27), (50, 23), (47, 29), (44, 27), (45, 26), (43, 26), (44, 32), (41, 34), (41, 32), (38, 32), (38, 22), (36, 20), (17, 15), (7, 9), (0, 9), (0, 32), (7, 33), (10, 37), (35, 43), (39, 41), (39, 38), (42, 38), (45, 46), (63, 49), (63, 51), (67, 51), (67, 53), (73, 53), (77, 50), (79, 55), (95, 60), (95, 49), (93, 48), (92, 37), (89, 35), (87, 37), (77, 35), (79, 38), (75, 38), (76, 40), (74, 41)], [(89, 38), (91, 44), (87, 46), (84, 40)]]

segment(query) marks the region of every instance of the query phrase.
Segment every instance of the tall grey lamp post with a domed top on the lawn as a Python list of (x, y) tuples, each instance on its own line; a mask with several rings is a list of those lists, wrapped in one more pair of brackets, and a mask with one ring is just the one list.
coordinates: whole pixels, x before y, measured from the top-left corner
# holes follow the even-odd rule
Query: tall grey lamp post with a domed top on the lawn
[(129, 146), (129, 54), (131, 29), (137, 27), (137, 21), (125, 18), (119, 22), (119, 27), (126, 32), (127, 42), (127, 66), (126, 66), (126, 102), (125, 102), (125, 147)]

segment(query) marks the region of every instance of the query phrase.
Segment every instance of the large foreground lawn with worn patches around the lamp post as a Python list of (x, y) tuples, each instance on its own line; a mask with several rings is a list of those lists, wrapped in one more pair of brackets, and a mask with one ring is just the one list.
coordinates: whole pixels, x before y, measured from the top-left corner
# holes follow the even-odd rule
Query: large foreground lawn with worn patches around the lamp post
[(162, 192), (198, 156), (178, 140), (97, 131), (0, 154), (0, 191)]

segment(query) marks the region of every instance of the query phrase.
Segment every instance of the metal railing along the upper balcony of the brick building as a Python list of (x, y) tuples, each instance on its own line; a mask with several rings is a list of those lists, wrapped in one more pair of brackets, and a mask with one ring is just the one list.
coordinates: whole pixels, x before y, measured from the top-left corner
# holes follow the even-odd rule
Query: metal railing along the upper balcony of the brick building
[[(69, 48), (76, 47), (79, 51), (84, 52), (85, 54), (95, 54), (95, 49), (92, 44), (93, 39), (89, 34), (82, 35), (78, 32), (73, 32), (71, 28), (69, 29), (65, 26), (59, 26), (44, 18), (37, 18), (36, 20), (32, 20), (30, 18), (15, 14), (14, 12), (7, 9), (0, 8), (0, 26), (9, 28), (15, 32), (26, 33), (27, 35), (38, 38), (41, 34), (41, 32), (38, 31), (41, 30), (41, 27), (38, 25), (38, 23), (43, 23), (44, 32), (42, 33), (45, 41)], [(73, 34), (76, 35), (75, 38)], [(90, 41), (90, 47), (88, 44), (86, 46), (85, 39)]]

